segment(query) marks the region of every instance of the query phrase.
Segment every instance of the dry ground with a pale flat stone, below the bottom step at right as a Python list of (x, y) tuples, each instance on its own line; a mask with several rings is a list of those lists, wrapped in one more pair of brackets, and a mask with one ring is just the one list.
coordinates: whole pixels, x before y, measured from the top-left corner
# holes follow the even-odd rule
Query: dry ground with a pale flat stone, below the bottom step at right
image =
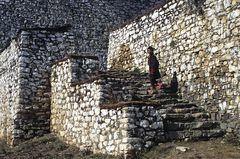
[[(188, 147), (181, 152), (177, 146)], [(240, 159), (240, 146), (222, 139), (198, 142), (171, 142), (160, 144), (144, 153), (143, 159)]]

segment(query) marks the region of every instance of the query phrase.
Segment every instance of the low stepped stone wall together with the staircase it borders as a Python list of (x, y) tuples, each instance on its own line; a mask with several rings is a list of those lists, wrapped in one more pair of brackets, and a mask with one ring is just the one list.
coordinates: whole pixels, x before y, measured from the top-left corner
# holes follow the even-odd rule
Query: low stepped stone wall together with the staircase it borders
[[(76, 72), (86, 70), (77, 81)], [(223, 135), (219, 121), (195, 104), (164, 90), (151, 97), (146, 79), (99, 72), (91, 56), (60, 60), (51, 74), (51, 132), (81, 149), (125, 156), (164, 141)]]

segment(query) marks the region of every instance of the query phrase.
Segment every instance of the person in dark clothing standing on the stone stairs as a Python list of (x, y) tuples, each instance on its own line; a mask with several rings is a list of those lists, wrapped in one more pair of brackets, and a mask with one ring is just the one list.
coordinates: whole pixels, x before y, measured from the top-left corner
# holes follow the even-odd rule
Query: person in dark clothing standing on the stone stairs
[(150, 94), (156, 90), (157, 79), (161, 77), (159, 72), (159, 62), (157, 57), (154, 55), (154, 48), (149, 46), (148, 52), (148, 66), (149, 66), (149, 79), (151, 83)]

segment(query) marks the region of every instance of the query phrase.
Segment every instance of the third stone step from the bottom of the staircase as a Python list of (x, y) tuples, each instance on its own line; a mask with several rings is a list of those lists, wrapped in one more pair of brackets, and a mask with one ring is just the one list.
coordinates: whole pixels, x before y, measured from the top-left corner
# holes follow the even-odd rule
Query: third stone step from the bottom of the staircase
[(197, 119), (208, 119), (209, 114), (198, 112), (198, 113), (174, 113), (174, 114), (166, 114), (165, 120), (172, 122), (192, 122)]

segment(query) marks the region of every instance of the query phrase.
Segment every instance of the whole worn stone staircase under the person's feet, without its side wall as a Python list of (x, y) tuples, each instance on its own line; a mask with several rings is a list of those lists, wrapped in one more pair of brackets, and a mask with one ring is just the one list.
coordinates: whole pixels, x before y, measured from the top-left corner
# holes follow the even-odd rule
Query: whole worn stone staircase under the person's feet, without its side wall
[(189, 103), (163, 87), (160, 94), (149, 94), (150, 83), (147, 74), (135, 78), (132, 83), (133, 100), (161, 103), (166, 109), (164, 129), (166, 140), (199, 140), (223, 136), (220, 121), (212, 120), (210, 114), (194, 103)]

